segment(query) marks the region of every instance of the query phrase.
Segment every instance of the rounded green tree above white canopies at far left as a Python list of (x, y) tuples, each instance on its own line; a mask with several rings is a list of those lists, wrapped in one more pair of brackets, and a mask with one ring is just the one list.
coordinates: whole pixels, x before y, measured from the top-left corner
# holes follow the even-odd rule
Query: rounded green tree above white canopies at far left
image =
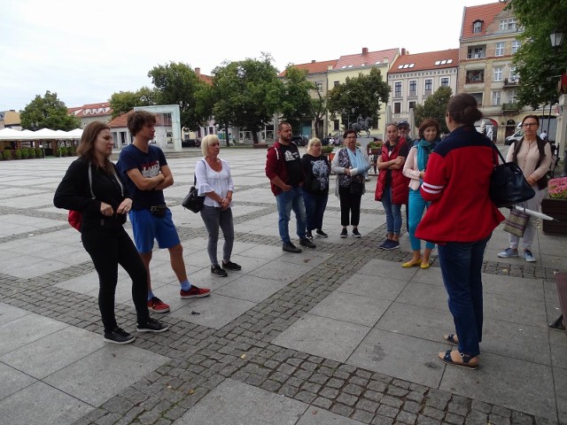
[(81, 127), (81, 120), (67, 113), (66, 105), (57, 93), (45, 92), (45, 96), (35, 96), (19, 114), (21, 127), (27, 129), (50, 128), (69, 131)]

